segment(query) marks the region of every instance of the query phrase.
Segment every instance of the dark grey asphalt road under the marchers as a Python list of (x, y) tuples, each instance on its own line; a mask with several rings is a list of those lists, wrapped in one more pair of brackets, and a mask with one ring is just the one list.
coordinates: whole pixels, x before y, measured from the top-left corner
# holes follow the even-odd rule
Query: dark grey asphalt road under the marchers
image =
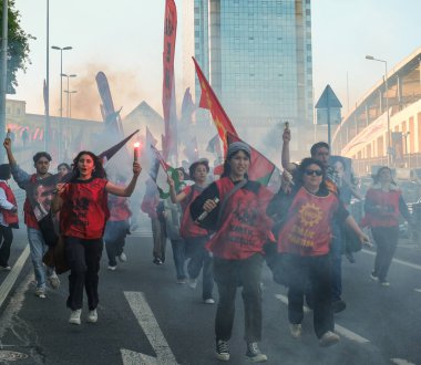
[[(11, 264), (25, 247), (17, 232)], [(68, 323), (66, 274), (59, 290), (42, 300), (33, 295), (30, 259), (3, 300), (0, 316), (0, 363), (4, 364), (219, 364), (214, 357), (216, 304), (203, 304), (201, 285), (176, 284), (171, 244), (164, 265), (152, 263), (152, 239), (145, 230), (126, 243), (129, 261), (100, 273), (99, 322)], [(359, 252), (357, 262), (343, 261), (343, 300), (347, 310), (336, 315), (338, 345), (320, 348), (312, 331), (312, 313), (304, 321), (304, 336), (288, 330), (285, 288), (264, 272), (264, 338), (269, 364), (421, 364), (421, 249), (402, 241), (389, 281), (373, 283), (372, 252)], [(8, 275), (0, 272), (1, 286)], [(418, 291), (419, 290), (419, 291)], [(0, 289), (1, 291), (1, 289)], [(215, 299), (217, 299), (215, 286)], [(88, 309), (84, 307), (85, 319)], [(237, 294), (236, 321), (229, 364), (246, 364), (243, 303)], [(142, 355), (143, 354), (143, 355)], [(19, 358), (25, 357), (25, 358)], [(14, 361), (11, 361), (13, 358)]]

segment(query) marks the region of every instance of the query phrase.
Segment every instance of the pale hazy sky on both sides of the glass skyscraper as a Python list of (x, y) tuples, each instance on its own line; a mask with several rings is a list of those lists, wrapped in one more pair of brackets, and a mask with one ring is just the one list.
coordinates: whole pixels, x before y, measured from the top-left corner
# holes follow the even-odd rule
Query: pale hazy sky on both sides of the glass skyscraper
[[(192, 0), (193, 1), (193, 0)], [(227, 1), (227, 0), (225, 0)], [(245, 1), (245, 0), (244, 0)], [(275, 1), (275, 0), (274, 0)], [(72, 116), (100, 119), (95, 74), (109, 77), (115, 107), (129, 114), (145, 100), (162, 114), (162, 50), (165, 0), (50, 0), (50, 46), (63, 51), (63, 73), (70, 81)], [(176, 0), (178, 30), (175, 82), (181, 103), (183, 1)], [(31, 62), (18, 75), (12, 98), (27, 102), (28, 113), (43, 113), (47, 0), (17, 0), (21, 25), (30, 42)], [(314, 88), (317, 102), (327, 84), (343, 105), (342, 115), (389, 70), (421, 46), (419, 0), (312, 0)], [(63, 90), (66, 90), (64, 81)], [(60, 114), (60, 51), (50, 50), (50, 114)], [(63, 101), (63, 113), (66, 103)]]

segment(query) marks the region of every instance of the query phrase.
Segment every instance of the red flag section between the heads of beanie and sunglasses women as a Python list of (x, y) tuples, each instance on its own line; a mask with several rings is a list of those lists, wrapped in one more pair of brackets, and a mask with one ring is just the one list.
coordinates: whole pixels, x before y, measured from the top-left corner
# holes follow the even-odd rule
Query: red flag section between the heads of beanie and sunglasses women
[(228, 145), (233, 142), (243, 142), (251, 149), (251, 157), (250, 157), (250, 166), (248, 168), (248, 177), (250, 180), (259, 181), (260, 184), (267, 186), (269, 184), (269, 180), (271, 178), (271, 175), (274, 174), (275, 169), (277, 168), (271, 161), (269, 161), (264, 155), (261, 155), (258, 150), (253, 148), (249, 144), (240, 139), (238, 136), (235, 136), (234, 134), (229, 133), (227, 134), (227, 142)]

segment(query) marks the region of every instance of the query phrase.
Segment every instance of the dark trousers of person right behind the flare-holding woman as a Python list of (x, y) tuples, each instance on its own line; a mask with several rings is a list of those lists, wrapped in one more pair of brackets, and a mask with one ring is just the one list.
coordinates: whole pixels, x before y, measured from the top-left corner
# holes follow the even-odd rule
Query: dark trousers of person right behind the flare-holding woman
[(126, 220), (106, 222), (104, 241), (110, 267), (115, 267), (117, 264), (115, 258), (123, 253), (127, 229), (129, 222)]

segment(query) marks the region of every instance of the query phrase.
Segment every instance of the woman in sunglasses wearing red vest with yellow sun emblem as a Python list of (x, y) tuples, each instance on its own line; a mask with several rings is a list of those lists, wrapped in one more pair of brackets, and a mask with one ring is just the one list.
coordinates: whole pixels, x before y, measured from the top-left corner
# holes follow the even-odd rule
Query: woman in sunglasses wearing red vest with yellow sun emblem
[(288, 319), (294, 337), (301, 335), (304, 294), (310, 282), (314, 327), (320, 346), (339, 341), (333, 333), (331, 305), (331, 260), (329, 251), (332, 220), (348, 225), (361, 242), (368, 241), (343, 204), (325, 182), (325, 165), (314, 158), (305, 158), (296, 171), (295, 186), (289, 194), (283, 190), (274, 197), (268, 215), (275, 218), (279, 264), (287, 273)]

